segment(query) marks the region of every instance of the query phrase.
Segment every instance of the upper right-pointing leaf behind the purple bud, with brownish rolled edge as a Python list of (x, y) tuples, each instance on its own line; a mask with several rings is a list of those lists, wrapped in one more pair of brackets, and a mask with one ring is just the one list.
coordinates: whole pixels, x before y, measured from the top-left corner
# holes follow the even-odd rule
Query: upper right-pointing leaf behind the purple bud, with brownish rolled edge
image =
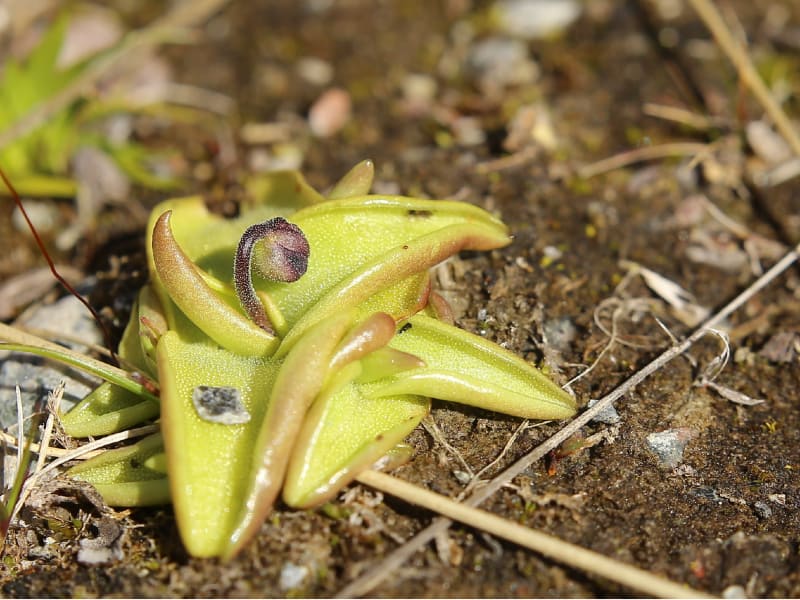
[(280, 306), (290, 327), (312, 306), (354, 306), (459, 250), (510, 241), (506, 227), (475, 206), (403, 197), (324, 202), (295, 213), (292, 222), (312, 248), (308, 272), (292, 284), (259, 287)]

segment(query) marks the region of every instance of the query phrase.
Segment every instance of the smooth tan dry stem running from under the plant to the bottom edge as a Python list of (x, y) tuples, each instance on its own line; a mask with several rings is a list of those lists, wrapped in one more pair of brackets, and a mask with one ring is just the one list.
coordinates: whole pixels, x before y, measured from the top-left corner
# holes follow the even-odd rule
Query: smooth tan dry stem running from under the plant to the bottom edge
[(689, 586), (680, 585), (643, 569), (621, 563), (564, 542), (556, 537), (535, 531), (519, 523), (498, 517), (490, 512), (461, 504), (446, 496), (422, 489), (412, 483), (378, 471), (366, 471), (358, 481), (396, 498), (402, 498), (471, 527), (529, 548), (559, 562), (600, 575), (638, 592), (660, 598), (710, 598)]

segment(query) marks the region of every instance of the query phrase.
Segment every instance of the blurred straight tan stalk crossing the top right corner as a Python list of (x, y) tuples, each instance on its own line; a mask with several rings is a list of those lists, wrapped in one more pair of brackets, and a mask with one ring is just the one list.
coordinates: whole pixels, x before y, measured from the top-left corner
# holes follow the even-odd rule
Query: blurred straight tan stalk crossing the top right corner
[(800, 136), (797, 135), (786, 113), (772, 97), (764, 81), (758, 75), (758, 71), (756, 71), (745, 48), (734, 39), (722, 15), (719, 14), (719, 11), (709, 0), (689, 0), (689, 3), (700, 15), (714, 39), (717, 40), (720, 48), (722, 48), (722, 51), (736, 67), (742, 83), (750, 88), (756, 100), (775, 123), (775, 127), (792, 147), (792, 151), (800, 156)]

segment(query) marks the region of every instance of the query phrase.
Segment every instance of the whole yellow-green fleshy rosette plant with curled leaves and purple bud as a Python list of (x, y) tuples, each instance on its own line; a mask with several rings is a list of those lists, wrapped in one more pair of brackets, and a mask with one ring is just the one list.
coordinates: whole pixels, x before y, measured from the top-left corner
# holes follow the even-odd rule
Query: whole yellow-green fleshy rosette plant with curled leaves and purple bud
[(232, 220), (199, 197), (157, 206), (119, 355), (159, 390), (105, 383), (62, 423), (80, 437), (160, 417), (161, 432), (69, 474), (113, 505), (171, 501), (192, 555), (231, 557), (280, 495), (317, 506), (406, 459), (430, 398), (571, 416), (569, 394), (453, 326), (431, 290), (430, 267), (508, 244), (505, 225), (465, 203), (370, 195), (372, 176), (362, 162), (325, 198), (276, 173)]

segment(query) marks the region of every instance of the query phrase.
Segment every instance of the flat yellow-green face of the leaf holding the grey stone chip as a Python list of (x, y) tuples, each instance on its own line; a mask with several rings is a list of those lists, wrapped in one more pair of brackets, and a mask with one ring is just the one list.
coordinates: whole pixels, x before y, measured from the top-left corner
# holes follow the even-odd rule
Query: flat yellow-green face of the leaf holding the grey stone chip
[[(181, 539), (193, 556), (220, 556), (250, 487), (253, 448), (280, 363), (220, 348), (180, 313), (159, 340), (157, 356), (162, 431)], [(200, 386), (236, 390), (250, 420), (225, 425), (203, 419), (194, 403)]]

